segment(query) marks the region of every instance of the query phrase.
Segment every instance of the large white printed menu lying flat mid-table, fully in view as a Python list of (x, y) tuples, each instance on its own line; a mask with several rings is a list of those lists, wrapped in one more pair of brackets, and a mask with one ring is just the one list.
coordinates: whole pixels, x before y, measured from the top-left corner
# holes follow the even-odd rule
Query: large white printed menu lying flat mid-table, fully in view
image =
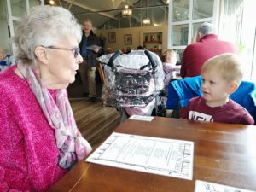
[(87, 162), (192, 180), (194, 143), (113, 132)]

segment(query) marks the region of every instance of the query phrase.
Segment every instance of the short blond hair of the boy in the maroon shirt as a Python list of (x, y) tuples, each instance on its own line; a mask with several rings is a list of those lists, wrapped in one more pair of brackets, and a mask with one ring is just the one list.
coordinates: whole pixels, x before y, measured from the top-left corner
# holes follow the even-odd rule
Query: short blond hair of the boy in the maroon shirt
[(222, 54), (207, 60), (201, 67), (201, 74), (214, 70), (227, 82), (241, 83), (243, 76), (241, 61), (234, 54)]

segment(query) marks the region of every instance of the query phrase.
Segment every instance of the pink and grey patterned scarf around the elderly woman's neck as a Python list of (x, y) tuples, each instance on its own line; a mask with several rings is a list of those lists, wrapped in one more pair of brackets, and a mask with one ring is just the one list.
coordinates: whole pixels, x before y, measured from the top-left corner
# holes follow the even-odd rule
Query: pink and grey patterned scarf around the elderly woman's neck
[(19, 63), (18, 69), (36, 96), (49, 125), (55, 129), (55, 140), (60, 150), (59, 166), (70, 168), (89, 154), (91, 147), (78, 131), (67, 90), (55, 90), (55, 102), (31, 66)]

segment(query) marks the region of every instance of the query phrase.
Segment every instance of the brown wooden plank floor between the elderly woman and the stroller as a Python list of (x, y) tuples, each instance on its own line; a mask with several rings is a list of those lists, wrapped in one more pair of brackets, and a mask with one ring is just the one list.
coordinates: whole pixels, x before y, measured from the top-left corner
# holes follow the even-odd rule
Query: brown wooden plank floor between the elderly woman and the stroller
[(103, 107), (100, 99), (97, 102), (90, 102), (88, 97), (69, 100), (79, 131), (92, 148), (102, 143), (119, 125), (120, 113), (116, 108)]

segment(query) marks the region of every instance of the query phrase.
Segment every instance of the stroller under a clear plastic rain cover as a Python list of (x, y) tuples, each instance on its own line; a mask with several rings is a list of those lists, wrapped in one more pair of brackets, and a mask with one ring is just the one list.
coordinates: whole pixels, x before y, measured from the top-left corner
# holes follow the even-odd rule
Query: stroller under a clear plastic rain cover
[(117, 51), (97, 59), (105, 73), (102, 102), (117, 108), (121, 121), (133, 114), (165, 115), (160, 99), (165, 73), (158, 55), (148, 50), (132, 50), (127, 55)]

